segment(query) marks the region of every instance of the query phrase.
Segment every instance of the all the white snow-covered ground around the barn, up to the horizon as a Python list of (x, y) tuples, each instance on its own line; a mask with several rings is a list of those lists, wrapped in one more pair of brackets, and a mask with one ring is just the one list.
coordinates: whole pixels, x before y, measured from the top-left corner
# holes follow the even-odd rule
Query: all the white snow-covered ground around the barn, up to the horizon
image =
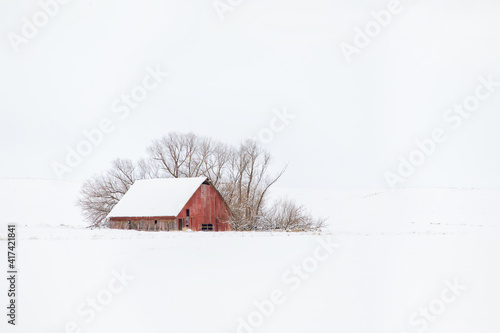
[(1, 332), (500, 331), (499, 192), (277, 189), (328, 230), (151, 233), (85, 228), (78, 187), (0, 180)]

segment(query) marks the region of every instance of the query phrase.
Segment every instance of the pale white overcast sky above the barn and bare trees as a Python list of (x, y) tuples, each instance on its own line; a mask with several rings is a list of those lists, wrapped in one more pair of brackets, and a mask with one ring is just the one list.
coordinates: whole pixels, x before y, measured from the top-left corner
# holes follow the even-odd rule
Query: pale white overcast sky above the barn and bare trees
[[(415, 140), (441, 129), (398, 186), (499, 188), (500, 87), (478, 87), (500, 82), (500, 2), (401, 0), (348, 61), (340, 46), (376, 29), (370, 13), (390, 2), (220, 0), (218, 13), (211, 0), (72, 0), (49, 17), (38, 1), (1, 0), (0, 178), (57, 179), (82, 131), (109, 120), (63, 179), (142, 157), (169, 131), (238, 144), (274, 124), (264, 145), (289, 166), (281, 186), (387, 187)], [(42, 26), (33, 35), (26, 22)], [(155, 70), (169, 75), (157, 84)], [(144, 80), (124, 116), (121, 96)], [(460, 124), (443, 118), (477, 89), (488, 96)], [(275, 121), (277, 110), (294, 118)]]

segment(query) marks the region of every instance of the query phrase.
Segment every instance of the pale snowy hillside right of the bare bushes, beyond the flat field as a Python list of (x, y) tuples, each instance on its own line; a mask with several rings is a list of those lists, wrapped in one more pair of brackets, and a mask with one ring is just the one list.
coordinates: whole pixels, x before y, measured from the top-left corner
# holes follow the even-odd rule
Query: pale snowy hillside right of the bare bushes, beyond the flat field
[(337, 191), (277, 188), (314, 215), (327, 217), (336, 232), (466, 232), (500, 226), (500, 191), (478, 189), (394, 189)]

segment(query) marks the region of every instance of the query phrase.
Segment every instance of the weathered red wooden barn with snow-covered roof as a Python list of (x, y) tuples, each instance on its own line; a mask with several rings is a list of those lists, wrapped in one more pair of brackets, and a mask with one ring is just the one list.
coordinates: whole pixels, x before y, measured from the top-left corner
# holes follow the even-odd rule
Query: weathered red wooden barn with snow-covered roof
[(138, 180), (108, 218), (112, 229), (232, 230), (229, 207), (207, 177)]

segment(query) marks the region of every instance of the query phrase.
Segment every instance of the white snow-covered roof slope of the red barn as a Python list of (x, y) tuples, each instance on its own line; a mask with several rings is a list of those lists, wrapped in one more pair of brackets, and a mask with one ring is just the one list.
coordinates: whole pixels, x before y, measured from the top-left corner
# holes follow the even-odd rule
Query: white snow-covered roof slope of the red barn
[(177, 216), (207, 177), (136, 181), (108, 217)]

